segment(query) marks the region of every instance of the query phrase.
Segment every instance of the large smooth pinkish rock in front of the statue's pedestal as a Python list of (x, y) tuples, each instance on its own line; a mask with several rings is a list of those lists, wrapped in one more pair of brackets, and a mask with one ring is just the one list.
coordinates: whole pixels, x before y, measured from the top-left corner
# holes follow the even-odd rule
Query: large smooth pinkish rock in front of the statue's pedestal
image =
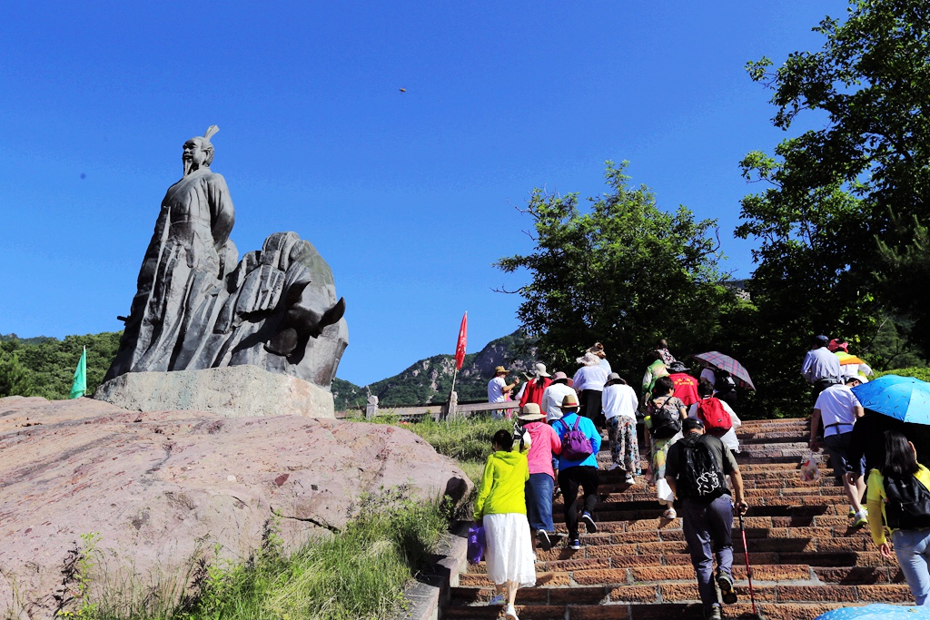
[(392, 426), (0, 399), (0, 616), (51, 616), (80, 534), (100, 533), (94, 587), (179, 592), (193, 559), (247, 558), (272, 511), (295, 547), (343, 527), (361, 495), (406, 482), (424, 499), (472, 486)]

